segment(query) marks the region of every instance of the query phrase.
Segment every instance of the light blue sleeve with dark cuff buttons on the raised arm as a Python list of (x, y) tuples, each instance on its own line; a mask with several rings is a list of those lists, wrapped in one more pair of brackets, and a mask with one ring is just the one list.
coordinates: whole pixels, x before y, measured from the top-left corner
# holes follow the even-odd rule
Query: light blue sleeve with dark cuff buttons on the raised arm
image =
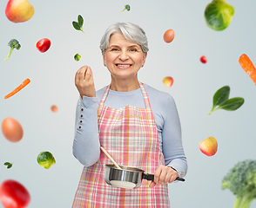
[(77, 101), (73, 155), (84, 166), (92, 166), (99, 159), (98, 99), (79, 96)]

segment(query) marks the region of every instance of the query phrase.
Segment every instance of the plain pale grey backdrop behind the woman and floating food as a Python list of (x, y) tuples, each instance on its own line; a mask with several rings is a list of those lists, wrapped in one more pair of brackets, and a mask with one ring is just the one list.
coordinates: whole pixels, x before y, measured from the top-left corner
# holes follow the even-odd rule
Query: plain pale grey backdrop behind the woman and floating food
[[(205, 24), (204, 10), (210, 2), (30, 0), (34, 16), (25, 23), (11, 23), (4, 14), (7, 0), (0, 1), (0, 120), (13, 117), (24, 128), (24, 138), (17, 143), (0, 133), (0, 183), (22, 183), (30, 192), (29, 207), (71, 207), (83, 168), (71, 149), (78, 99), (74, 75), (89, 65), (96, 89), (109, 84), (100, 39), (112, 23), (131, 22), (145, 29), (150, 47), (138, 79), (172, 94), (179, 111), (189, 169), (185, 183), (169, 185), (172, 208), (232, 207), (234, 196), (221, 190), (221, 180), (240, 160), (255, 159), (256, 86), (238, 60), (246, 53), (256, 64), (256, 2), (230, 0), (235, 13), (223, 31)], [(127, 3), (131, 10), (120, 13)], [(72, 27), (78, 14), (84, 17), (85, 33)], [(175, 31), (169, 44), (163, 41), (167, 29)], [(51, 48), (42, 54), (35, 45), (44, 37), (51, 40)], [(12, 38), (22, 48), (4, 62)], [(82, 55), (79, 62), (73, 59), (77, 53)], [(208, 59), (206, 64), (199, 61), (201, 55)], [(171, 88), (163, 84), (165, 76), (173, 77)], [(27, 87), (3, 99), (26, 78), (31, 81)], [(208, 115), (213, 94), (225, 85), (231, 88), (230, 97), (245, 99), (244, 105)], [(57, 105), (57, 113), (51, 112), (51, 105)], [(209, 136), (219, 143), (212, 157), (199, 151), (199, 141)], [(37, 164), (42, 151), (50, 151), (57, 161), (49, 170)], [(7, 170), (1, 165), (5, 161), (14, 162), (13, 167)], [(251, 207), (256, 207), (256, 200)]]

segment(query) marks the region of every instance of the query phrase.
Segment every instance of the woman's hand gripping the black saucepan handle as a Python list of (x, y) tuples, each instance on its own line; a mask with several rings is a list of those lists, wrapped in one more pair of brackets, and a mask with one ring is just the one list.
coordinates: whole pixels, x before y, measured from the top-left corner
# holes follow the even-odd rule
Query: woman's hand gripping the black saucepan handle
[(152, 181), (149, 187), (153, 188), (157, 184), (165, 185), (172, 183), (177, 177), (179, 177), (179, 173), (173, 170), (172, 167), (160, 165), (154, 174), (154, 181)]

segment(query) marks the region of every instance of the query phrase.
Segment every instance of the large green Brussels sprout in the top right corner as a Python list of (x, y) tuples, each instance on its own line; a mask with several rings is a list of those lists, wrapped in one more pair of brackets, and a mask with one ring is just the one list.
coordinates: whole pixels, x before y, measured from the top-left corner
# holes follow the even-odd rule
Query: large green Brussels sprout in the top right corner
[(234, 8), (226, 0), (213, 0), (205, 7), (205, 23), (211, 29), (226, 29), (232, 22)]

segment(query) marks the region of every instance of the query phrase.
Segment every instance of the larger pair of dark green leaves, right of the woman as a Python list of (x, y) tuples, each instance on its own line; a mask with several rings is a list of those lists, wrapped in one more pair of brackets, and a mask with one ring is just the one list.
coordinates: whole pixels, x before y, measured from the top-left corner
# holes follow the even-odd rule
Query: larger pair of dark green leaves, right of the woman
[(212, 112), (218, 109), (234, 111), (244, 104), (245, 100), (241, 97), (234, 97), (234, 98), (228, 99), (229, 93), (230, 93), (229, 86), (224, 86), (222, 88), (219, 88), (219, 90), (213, 95), (213, 107), (209, 114), (212, 114)]

